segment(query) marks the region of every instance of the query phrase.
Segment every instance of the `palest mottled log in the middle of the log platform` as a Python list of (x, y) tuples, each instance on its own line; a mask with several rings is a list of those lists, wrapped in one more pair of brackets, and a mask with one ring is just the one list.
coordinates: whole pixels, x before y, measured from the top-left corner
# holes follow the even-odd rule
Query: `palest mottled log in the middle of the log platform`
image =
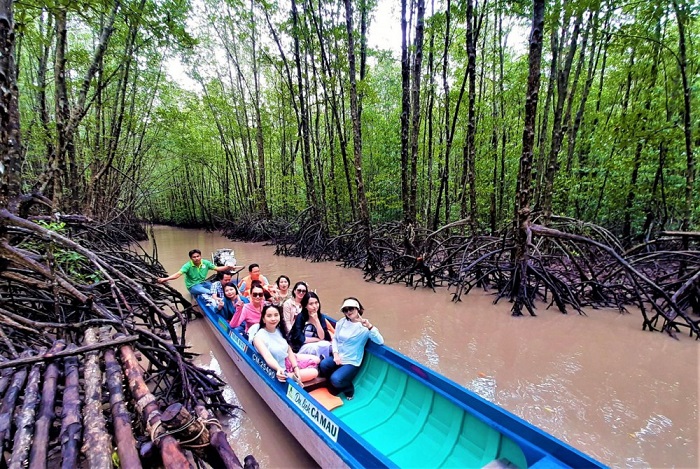
[[(85, 344), (97, 344), (94, 328), (85, 330)], [(100, 370), (99, 352), (85, 354), (83, 371), (85, 386), (85, 405), (83, 422), (85, 434), (82, 452), (91, 468), (112, 467), (112, 438), (107, 433), (107, 424), (102, 414), (102, 371)]]

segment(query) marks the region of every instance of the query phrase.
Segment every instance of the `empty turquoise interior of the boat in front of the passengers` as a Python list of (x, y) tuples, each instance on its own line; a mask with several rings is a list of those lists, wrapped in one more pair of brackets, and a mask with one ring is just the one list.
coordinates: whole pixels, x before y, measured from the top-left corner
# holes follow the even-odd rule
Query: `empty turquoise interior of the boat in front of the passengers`
[(354, 383), (333, 414), (399, 467), (528, 466), (510, 438), (381, 358), (366, 354)]

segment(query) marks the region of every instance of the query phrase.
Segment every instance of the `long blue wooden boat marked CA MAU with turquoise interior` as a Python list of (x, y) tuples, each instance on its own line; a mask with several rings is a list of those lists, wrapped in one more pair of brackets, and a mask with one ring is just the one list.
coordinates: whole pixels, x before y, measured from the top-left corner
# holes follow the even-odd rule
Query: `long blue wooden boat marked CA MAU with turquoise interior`
[(420, 363), (372, 342), (354, 380), (354, 399), (342, 399), (342, 405), (328, 410), (314, 397), (316, 391), (309, 393), (291, 380), (277, 381), (252, 344), (204, 301), (199, 305), (241, 373), (321, 467), (604, 467)]

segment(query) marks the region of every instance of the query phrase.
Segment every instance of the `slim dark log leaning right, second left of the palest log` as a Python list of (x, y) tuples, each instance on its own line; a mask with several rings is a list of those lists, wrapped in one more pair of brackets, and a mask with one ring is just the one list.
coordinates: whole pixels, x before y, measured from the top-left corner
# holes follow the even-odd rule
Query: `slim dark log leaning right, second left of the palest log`
[[(66, 343), (62, 340), (54, 342), (49, 353), (63, 350)], [(29, 469), (46, 469), (46, 454), (49, 448), (49, 429), (56, 418), (54, 410), (56, 402), (56, 385), (58, 384), (60, 369), (58, 363), (53, 361), (46, 367), (44, 373), (44, 386), (41, 390), (41, 403), (39, 405), (39, 419), (36, 421), (34, 441), (29, 454)]]

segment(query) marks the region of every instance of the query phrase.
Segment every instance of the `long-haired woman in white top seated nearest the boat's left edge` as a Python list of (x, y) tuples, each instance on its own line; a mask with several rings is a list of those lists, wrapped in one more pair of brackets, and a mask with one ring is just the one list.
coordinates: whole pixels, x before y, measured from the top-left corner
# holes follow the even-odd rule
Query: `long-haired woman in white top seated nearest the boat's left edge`
[(253, 339), (253, 346), (265, 359), (265, 363), (277, 372), (279, 381), (286, 381), (287, 373), (298, 382), (318, 376), (319, 359), (312, 355), (296, 355), (284, 339), (286, 326), (282, 311), (277, 305), (267, 305), (260, 317), (260, 329)]

